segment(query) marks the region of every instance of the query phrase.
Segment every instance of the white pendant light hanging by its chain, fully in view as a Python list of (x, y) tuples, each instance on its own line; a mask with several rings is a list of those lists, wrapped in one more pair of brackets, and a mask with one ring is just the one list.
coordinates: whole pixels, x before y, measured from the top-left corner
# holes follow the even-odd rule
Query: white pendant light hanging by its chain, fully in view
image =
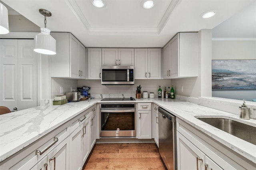
[(52, 16), (48, 10), (40, 9), (40, 14), (44, 16), (44, 28), (41, 28), (41, 33), (34, 38), (34, 51), (42, 54), (56, 54), (56, 40), (50, 35), (50, 30), (46, 28), (46, 17)]

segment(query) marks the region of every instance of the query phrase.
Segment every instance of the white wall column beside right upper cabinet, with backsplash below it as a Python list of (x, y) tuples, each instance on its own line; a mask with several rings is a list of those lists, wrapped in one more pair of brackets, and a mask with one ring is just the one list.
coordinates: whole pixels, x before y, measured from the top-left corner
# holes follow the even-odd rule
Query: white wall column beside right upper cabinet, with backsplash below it
[[(212, 95), (212, 31), (200, 30), (198, 38), (198, 77), (173, 79), (172, 84), (176, 95), (187, 97), (209, 97)], [(183, 86), (183, 92), (181, 91), (181, 86)]]

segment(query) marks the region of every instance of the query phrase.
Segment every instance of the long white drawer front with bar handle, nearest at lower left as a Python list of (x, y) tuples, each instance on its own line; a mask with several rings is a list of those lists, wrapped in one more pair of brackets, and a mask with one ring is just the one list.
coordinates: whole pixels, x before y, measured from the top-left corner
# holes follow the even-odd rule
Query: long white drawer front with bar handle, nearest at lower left
[[(29, 146), (26, 146), (22, 150), (16, 152), (6, 160), (3, 160), (0, 164), (0, 169), (3, 170), (17, 170), (24, 166), (27, 162), (36, 164), (42, 158), (44, 158), (53, 148), (60, 144), (70, 134), (69, 123), (65, 123), (56, 128), (52, 132), (49, 132), (42, 138), (39, 138)], [(54, 141), (54, 138), (58, 138), (58, 141)], [(38, 150), (38, 152), (36, 152)], [(40, 152), (41, 154), (40, 154)]]

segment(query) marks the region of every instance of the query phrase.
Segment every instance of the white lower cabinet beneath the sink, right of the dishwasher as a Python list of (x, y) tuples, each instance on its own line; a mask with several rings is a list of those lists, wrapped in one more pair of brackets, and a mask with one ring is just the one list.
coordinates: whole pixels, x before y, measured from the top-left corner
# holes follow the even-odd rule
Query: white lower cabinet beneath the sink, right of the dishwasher
[(177, 118), (178, 170), (246, 170), (255, 164)]

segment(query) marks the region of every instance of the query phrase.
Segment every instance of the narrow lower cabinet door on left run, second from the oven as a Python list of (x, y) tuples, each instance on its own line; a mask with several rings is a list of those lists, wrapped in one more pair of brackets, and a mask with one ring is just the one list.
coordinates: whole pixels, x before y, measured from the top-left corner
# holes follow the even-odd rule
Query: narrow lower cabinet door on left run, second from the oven
[(82, 147), (81, 158), (82, 158), (82, 166), (83, 166), (90, 154), (90, 119), (87, 119), (83, 123), (82, 133), (83, 134), (82, 134), (82, 142), (81, 142), (81, 147)]

